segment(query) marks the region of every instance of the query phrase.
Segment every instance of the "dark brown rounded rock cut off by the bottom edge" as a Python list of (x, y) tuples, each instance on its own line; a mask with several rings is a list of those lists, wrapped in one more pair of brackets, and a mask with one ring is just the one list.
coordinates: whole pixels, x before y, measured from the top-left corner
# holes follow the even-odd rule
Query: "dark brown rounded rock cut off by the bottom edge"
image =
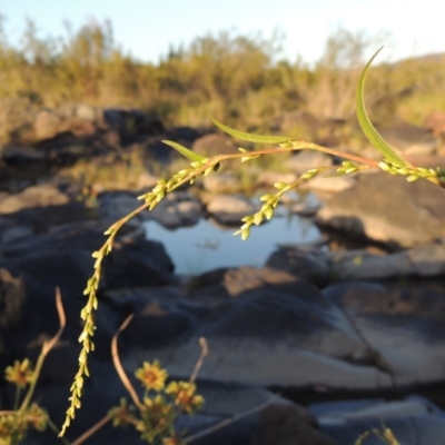
[(270, 405), (259, 416), (250, 445), (335, 445), (334, 441), (317, 432), (291, 405)]

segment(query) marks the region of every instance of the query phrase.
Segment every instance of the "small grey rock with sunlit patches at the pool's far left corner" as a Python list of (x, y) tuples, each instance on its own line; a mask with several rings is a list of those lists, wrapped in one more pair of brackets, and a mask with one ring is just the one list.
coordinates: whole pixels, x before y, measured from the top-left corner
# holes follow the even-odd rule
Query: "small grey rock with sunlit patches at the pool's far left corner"
[(201, 204), (188, 191), (174, 191), (148, 214), (148, 218), (169, 229), (195, 226), (201, 218)]

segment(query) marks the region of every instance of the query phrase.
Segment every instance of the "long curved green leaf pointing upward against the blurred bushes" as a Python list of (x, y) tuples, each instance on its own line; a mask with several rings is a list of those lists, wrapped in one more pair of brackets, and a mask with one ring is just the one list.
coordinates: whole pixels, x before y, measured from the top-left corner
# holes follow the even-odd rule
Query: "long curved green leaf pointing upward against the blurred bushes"
[[(383, 48), (383, 47), (382, 47)], [(370, 122), (368, 115), (366, 113), (365, 108), (365, 99), (364, 99), (364, 89), (365, 89), (365, 79), (370, 67), (373, 60), (376, 56), (382, 51), (382, 48), (370, 58), (370, 60), (366, 63), (365, 69), (362, 72), (360, 79), (358, 80), (358, 86), (355, 95), (355, 105), (357, 109), (357, 119), (362, 127), (363, 132), (368, 138), (369, 142), (373, 144), (375, 148), (387, 159), (389, 162), (404, 167), (407, 166), (404, 159), (402, 159), (385, 141), (385, 139), (378, 134), (378, 131), (374, 128)]]

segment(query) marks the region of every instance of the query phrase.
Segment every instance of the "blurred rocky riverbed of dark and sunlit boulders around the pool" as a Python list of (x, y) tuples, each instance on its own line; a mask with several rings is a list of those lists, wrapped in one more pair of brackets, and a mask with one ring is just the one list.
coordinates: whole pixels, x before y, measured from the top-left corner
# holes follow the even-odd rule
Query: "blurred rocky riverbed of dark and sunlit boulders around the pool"
[[(111, 117), (121, 127), (128, 119), (123, 111), (116, 112), (108, 115), (108, 127), (103, 122), (100, 127), (100, 117), (91, 115), (91, 127), (70, 137), (92, 138), (95, 126), (100, 138), (111, 138), (106, 136), (111, 130), (123, 139), (135, 137)], [(50, 117), (39, 119), (44, 122)], [(154, 138), (164, 131), (139, 119), (135, 120), (139, 135), (145, 131)], [(37, 389), (39, 403), (56, 424), (62, 421), (77, 369), (79, 313), (92, 271), (91, 253), (103, 243), (108, 226), (135, 209), (136, 197), (156, 182), (145, 175), (140, 187), (103, 190), (96, 207), (87, 207), (78, 200), (79, 185), (49, 175), (52, 167), (44, 164), (57, 141), (60, 154), (67, 152), (63, 138), (68, 136), (63, 135), (42, 137), (39, 144), (44, 149), (6, 150), (2, 171), (8, 178), (0, 191), (0, 368), (24, 356), (36, 360), (42, 342), (58, 329), (53, 296), (60, 287), (67, 327), (46, 360)], [(196, 147), (204, 144), (191, 130), (178, 129), (176, 135), (180, 136), (177, 140), (195, 139)], [(211, 135), (210, 142), (216, 145), (218, 138), (222, 144), (219, 135)], [(205, 145), (210, 142), (207, 137)], [(89, 156), (100, 156), (99, 151)], [(42, 162), (43, 174), (27, 170), (30, 165), (36, 167), (34, 161)], [(296, 155), (288, 160), (286, 175), (293, 180), (310, 162), (334, 161), (325, 155)], [(444, 164), (442, 158), (426, 161)], [(20, 180), (11, 179), (18, 169), (27, 170), (28, 177), (21, 171)], [(258, 174), (257, 184), (270, 185), (280, 175)], [(134, 314), (119, 346), (129, 375), (142, 360), (158, 358), (172, 377), (188, 379), (200, 354), (199, 338), (207, 339), (210, 354), (198, 378), (206, 405), (191, 419), (181, 419), (181, 427), (190, 434), (267, 405), (197, 444), (346, 444), (383, 419), (404, 445), (438, 445), (434, 441), (444, 436), (445, 417), (431, 400), (445, 407), (441, 396), (445, 378), (445, 191), (386, 174), (336, 178), (335, 187), (330, 181), (307, 184), (318, 194), (317, 200), (295, 195), (281, 208), (310, 218), (324, 236), (309, 244), (290, 238), (276, 246), (259, 267), (228, 265), (196, 273), (190, 279), (176, 274), (162, 239), (146, 237), (148, 220), (172, 230), (204, 218), (235, 225), (256, 211), (258, 201), (236, 190), (237, 178), (230, 172), (172, 192), (155, 211), (126, 226), (105, 261), (91, 378), (69, 437), (80, 435), (126, 396), (111, 363), (110, 342), (122, 320)], [(239, 249), (255, 243), (254, 230)], [(338, 248), (338, 239), (354, 248)], [(429, 400), (413, 398), (413, 394)], [(10, 388), (1, 386), (2, 407), (12, 397)], [(360, 402), (326, 404), (338, 398)], [(136, 433), (111, 427), (93, 437), (91, 443), (98, 444), (139, 443)], [(44, 434), (32, 436), (29, 443), (58, 442)]]

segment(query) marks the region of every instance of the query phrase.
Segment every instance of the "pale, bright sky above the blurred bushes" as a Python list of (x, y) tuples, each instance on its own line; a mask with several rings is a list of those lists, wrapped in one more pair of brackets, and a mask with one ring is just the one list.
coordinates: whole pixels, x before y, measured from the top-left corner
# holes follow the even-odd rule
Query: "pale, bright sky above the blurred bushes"
[[(445, 51), (445, 27), (437, 0), (0, 0), (4, 31), (17, 42), (24, 19), (32, 19), (41, 37), (65, 34), (90, 19), (109, 19), (115, 40), (142, 61), (158, 62), (170, 44), (187, 44), (196, 37), (220, 30), (240, 34), (274, 30), (286, 36), (283, 56), (317, 60), (327, 37), (338, 27), (385, 36), (382, 61)], [(379, 46), (378, 44), (378, 46)], [(370, 57), (378, 49), (369, 48)]]

